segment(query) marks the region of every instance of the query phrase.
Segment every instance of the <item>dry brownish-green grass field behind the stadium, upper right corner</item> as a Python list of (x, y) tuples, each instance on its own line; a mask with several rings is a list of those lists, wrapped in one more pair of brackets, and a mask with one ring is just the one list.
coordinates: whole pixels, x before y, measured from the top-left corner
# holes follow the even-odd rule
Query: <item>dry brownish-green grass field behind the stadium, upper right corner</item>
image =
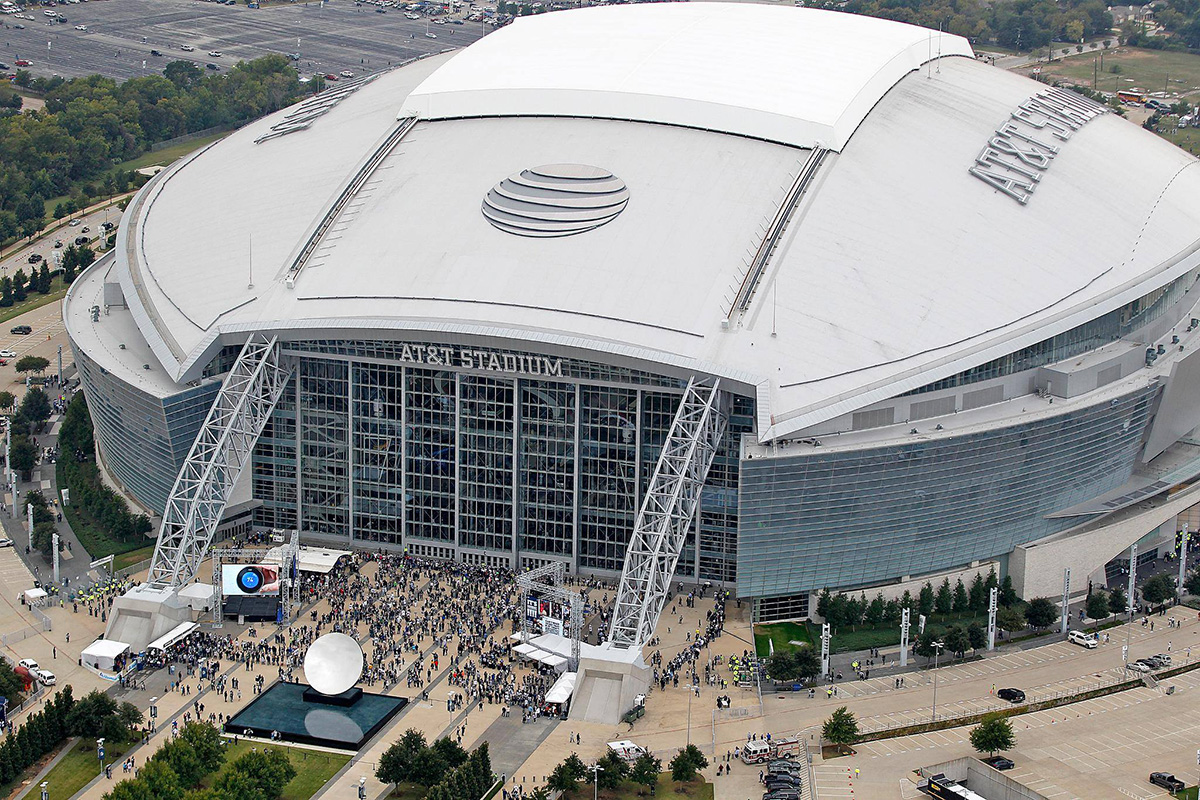
[[(1021, 72), (1027, 73), (1038, 66), (1044, 76), (1092, 86), (1096, 56), (1099, 53), (1100, 50), (1084, 50), (1060, 61), (1022, 67)], [(1120, 72), (1114, 73), (1114, 66)], [(1200, 55), (1136, 47), (1105, 50), (1104, 68), (1099, 71), (1099, 85), (1096, 89), (1110, 92), (1118, 89), (1160, 92), (1165, 89), (1169, 94), (1187, 97), (1194, 103), (1200, 97)]]

